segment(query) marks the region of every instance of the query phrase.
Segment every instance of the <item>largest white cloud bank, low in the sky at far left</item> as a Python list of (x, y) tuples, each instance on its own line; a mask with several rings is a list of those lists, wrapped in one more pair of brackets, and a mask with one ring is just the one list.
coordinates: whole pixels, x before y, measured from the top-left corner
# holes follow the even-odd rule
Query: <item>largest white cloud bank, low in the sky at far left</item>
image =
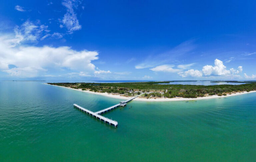
[[(34, 29), (32, 27), (31, 29)], [(73, 50), (67, 46), (36, 47), (22, 44), (13, 45), (10, 35), (0, 37), (0, 70), (18, 77), (42, 76), (49, 69), (83, 71), (80, 76), (110, 73), (96, 70), (93, 60), (98, 59), (96, 51)], [(85, 73), (86, 72), (86, 73)]]

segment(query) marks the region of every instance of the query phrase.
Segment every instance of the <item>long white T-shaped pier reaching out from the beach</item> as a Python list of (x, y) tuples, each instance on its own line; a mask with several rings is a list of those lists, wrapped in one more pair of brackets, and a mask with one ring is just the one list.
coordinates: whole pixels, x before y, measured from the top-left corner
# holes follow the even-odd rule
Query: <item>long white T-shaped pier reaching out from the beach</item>
[[(143, 93), (142, 93), (142, 94), (143, 94)], [(140, 94), (140, 95), (142, 95), (142, 94)], [(106, 112), (108, 112), (108, 111), (110, 111), (110, 110), (112, 110), (112, 109), (115, 109), (115, 108), (119, 107), (119, 106), (125, 106), (128, 102), (130, 102), (131, 100), (135, 99), (136, 97), (139, 97), (140, 95), (137, 95), (137, 96), (135, 96), (135, 97), (132, 97), (132, 98), (126, 100), (126, 101), (121, 101), (119, 104), (116, 104), (116, 105), (114, 105), (114, 106), (108, 107), (108, 108), (106, 108), (106, 109), (103, 109), (103, 110), (100, 110), (100, 111), (97, 111), (97, 112), (92, 112), (92, 111), (90, 111), (90, 110), (88, 110), (88, 109), (85, 109), (85, 108), (83, 108), (83, 107), (81, 107), (81, 106), (79, 106), (79, 105), (77, 105), (77, 104), (74, 104), (74, 107), (75, 107), (75, 108), (78, 108), (79, 110), (81, 110), (81, 111), (83, 111), (83, 112), (86, 112), (86, 113), (92, 115), (93, 117), (95, 117), (95, 118), (97, 118), (97, 119), (103, 120), (104, 122), (107, 122), (107, 123), (109, 123), (110, 125), (113, 125), (113, 126), (116, 127), (116, 126), (118, 125), (118, 122), (117, 122), (117, 121), (114, 121), (114, 120), (111, 120), (111, 119), (106, 118), (106, 117), (104, 117), (104, 116), (101, 116), (100, 114), (106, 113)]]

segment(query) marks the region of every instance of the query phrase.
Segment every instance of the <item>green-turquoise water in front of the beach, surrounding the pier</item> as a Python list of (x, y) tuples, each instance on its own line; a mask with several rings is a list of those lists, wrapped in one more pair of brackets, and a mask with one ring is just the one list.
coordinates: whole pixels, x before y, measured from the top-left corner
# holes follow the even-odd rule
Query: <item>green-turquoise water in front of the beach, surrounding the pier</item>
[(41, 82), (0, 82), (0, 161), (255, 161), (256, 93), (198, 101), (118, 103)]

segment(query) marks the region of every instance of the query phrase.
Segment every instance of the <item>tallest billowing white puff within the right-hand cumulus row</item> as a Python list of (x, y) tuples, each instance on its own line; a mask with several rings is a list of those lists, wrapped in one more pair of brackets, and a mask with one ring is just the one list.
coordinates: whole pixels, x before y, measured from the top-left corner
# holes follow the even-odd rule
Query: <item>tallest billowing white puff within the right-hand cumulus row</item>
[(223, 62), (215, 59), (214, 60), (214, 65), (206, 65), (203, 67), (202, 72), (205, 76), (210, 76), (210, 75), (228, 75), (230, 74), (230, 71), (226, 69), (226, 66), (223, 65)]

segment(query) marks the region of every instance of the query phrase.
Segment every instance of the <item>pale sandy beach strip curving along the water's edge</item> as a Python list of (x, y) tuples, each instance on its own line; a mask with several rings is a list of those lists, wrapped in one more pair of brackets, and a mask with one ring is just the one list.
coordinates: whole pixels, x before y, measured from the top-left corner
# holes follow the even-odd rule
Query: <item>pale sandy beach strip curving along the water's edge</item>
[[(47, 83), (43, 83), (43, 84), (47, 84)], [(47, 84), (47, 85), (51, 85), (51, 84)], [(58, 86), (58, 85), (51, 85), (51, 86), (57, 86), (57, 87), (63, 87), (63, 86)], [(120, 95), (113, 95), (113, 94), (108, 94), (108, 93), (100, 93), (100, 92), (92, 92), (92, 91), (88, 91), (88, 90), (81, 90), (81, 89), (74, 89), (74, 88), (69, 88), (69, 87), (63, 87), (63, 88), (68, 88), (68, 89), (72, 89), (72, 90), (76, 90), (76, 91), (80, 91), (80, 92), (86, 92), (86, 93), (91, 93), (91, 94), (97, 94), (97, 95), (102, 95), (102, 96), (106, 96), (106, 97), (111, 97), (111, 98), (116, 98), (116, 99), (123, 99), (123, 100), (127, 100), (130, 97), (125, 97), (125, 96), (120, 96)], [(212, 95), (212, 96), (206, 96), (206, 97), (197, 97), (197, 98), (150, 98), (150, 99), (146, 99), (146, 98), (135, 98), (133, 101), (147, 101), (147, 102), (163, 102), (163, 101), (194, 101), (194, 100), (207, 100), (207, 99), (213, 99), (213, 98), (224, 98), (224, 97), (230, 97), (230, 96), (237, 96), (237, 95), (242, 95), (242, 94), (248, 94), (248, 93), (254, 93), (256, 91), (250, 91), (250, 92), (236, 92), (233, 93), (231, 95), (226, 95), (226, 96), (218, 96), (218, 95)]]

